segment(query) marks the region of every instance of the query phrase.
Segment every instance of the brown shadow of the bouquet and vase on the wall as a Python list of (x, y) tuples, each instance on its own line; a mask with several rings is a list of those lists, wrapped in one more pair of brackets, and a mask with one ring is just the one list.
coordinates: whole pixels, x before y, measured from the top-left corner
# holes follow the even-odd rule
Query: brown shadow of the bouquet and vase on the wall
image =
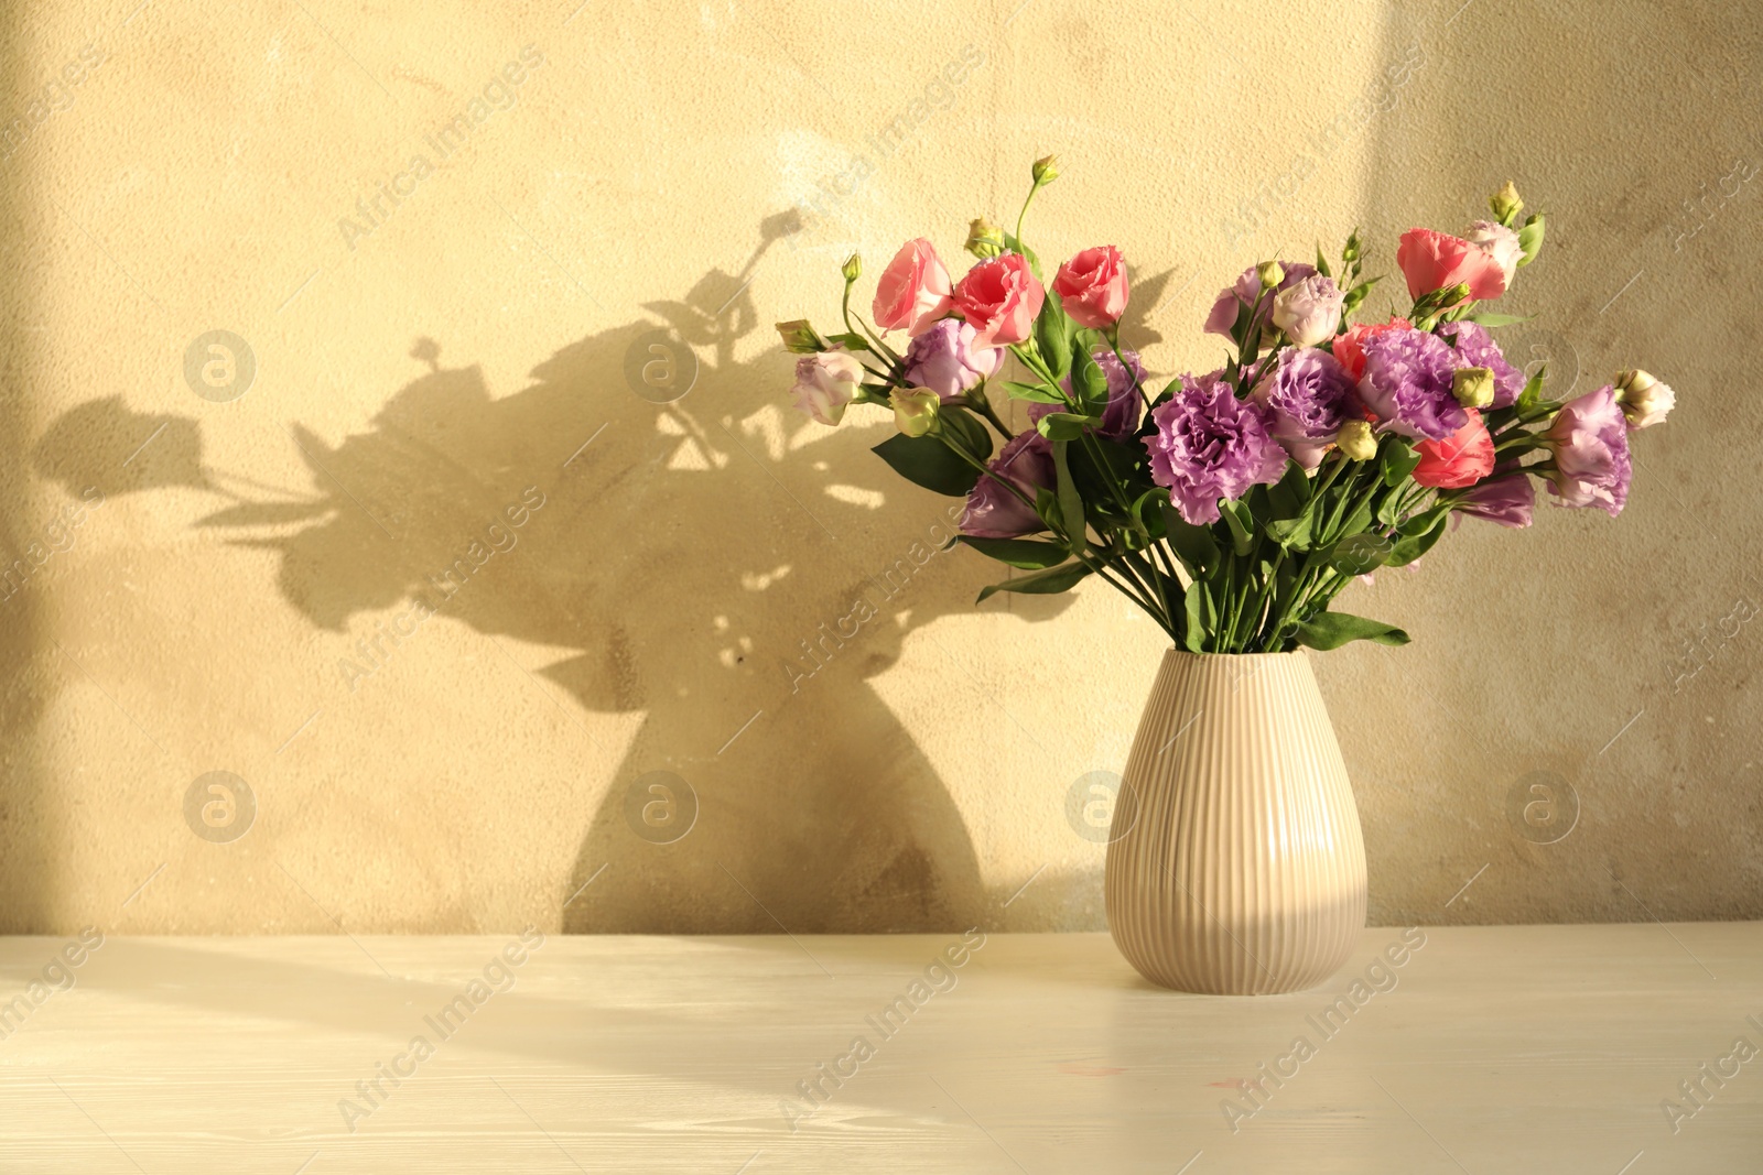
[[(143, 418), (120, 398), (55, 421), (35, 467), (76, 490), (85, 469), (115, 467), (109, 449), (164, 426), (116, 491), (233, 499), (199, 525), (277, 551), (279, 588), (312, 624), (370, 625), (384, 657), (430, 610), (510, 659), (502, 638), (575, 650), (539, 669), (541, 689), (566, 713), (559, 687), (587, 710), (643, 719), (573, 877), (557, 883), (566, 930), (776, 932), (772, 914), (800, 932), (966, 928), (998, 895), (982, 888), (947, 787), (867, 678), (908, 632), (971, 611), (998, 567), (940, 551), (961, 504), (864, 451), (885, 433), (827, 432), (788, 409), (788, 356), (735, 359), (762, 329), (753, 268), (792, 231), (793, 213), (767, 218), (746, 270), (647, 307), (689, 352), (636, 321), (562, 347), (497, 400), (478, 368), (446, 366), (420, 340), (411, 354), (430, 370), (370, 432), (328, 447), (291, 428), (310, 497), (205, 469), (194, 421)], [(1155, 305), (1160, 280), (1135, 301)], [(1001, 599), (1028, 620), (1067, 604)], [(363, 611), (391, 615), (351, 624)], [(968, 675), (933, 645), (936, 673)], [(338, 673), (370, 676), (376, 655)], [(582, 780), (606, 775), (612, 750), (575, 728)], [(402, 735), (444, 731), (414, 713)], [(652, 772), (698, 802), (672, 842), (681, 824), (668, 819), (689, 802), (666, 777), (670, 791), (654, 791)], [(474, 800), (472, 780), (451, 784)], [(645, 821), (645, 807), (666, 819)]]

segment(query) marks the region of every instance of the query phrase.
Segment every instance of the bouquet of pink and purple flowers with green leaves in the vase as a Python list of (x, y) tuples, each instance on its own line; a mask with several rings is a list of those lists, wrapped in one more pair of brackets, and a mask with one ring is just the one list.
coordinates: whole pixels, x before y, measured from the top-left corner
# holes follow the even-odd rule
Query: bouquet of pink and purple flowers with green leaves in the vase
[[(1023, 215), (1058, 176), (1033, 167)], [(1044, 284), (1015, 233), (975, 220), (959, 280), (927, 240), (883, 270), (874, 322), (779, 322), (797, 361), (797, 405), (837, 425), (852, 403), (887, 405), (897, 433), (874, 447), (908, 481), (964, 497), (961, 536), (1030, 574), (980, 592), (1065, 592), (1098, 576), (1195, 654), (1407, 643), (1387, 624), (1331, 611), (1356, 576), (1425, 555), (1453, 514), (1529, 527), (1532, 479), (1564, 506), (1611, 516), (1629, 491), (1629, 432), (1666, 418), (1671, 389), (1641, 370), (1566, 403), (1493, 338), (1520, 322), (1486, 305), (1543, 245), (1507, 183), (1467, 236), (1402, 234), (1410, 307), (1354, 321), (1379, 278), (1354, 233), (1331, 268), (1250, 266), (1206, 317), (1224, 366), (1153, 391), (1120, 338), (1130, 298), (1112, 245), (1084, 248)], [(904, 331), (904, 340), (889, 336)], [(1007, 354), (1015, 366), (1007, 370)], [(1026, 402), (1012, 430), (996, 391)]]

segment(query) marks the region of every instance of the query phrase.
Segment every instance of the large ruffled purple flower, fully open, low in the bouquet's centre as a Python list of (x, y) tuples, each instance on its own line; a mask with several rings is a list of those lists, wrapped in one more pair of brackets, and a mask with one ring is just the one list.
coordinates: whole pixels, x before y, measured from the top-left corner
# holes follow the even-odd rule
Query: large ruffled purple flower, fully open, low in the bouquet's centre
[(1238, 400), (1218, 372), (1183, 375), (1181, 391), (1151, 419), (1157, 432), (1144, 439), (1151, 481), (1169, 486), (1169, 500), (1197, 527), (1218, 521), (1218, 499), (1238, 499), (1285, 472), (1268, 409)]

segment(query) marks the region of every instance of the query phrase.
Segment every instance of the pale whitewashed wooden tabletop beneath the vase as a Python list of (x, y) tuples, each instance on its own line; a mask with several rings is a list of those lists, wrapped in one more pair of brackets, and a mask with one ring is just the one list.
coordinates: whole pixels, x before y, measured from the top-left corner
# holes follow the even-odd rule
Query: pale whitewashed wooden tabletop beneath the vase
[(1100, 934), (16, 937), (0, 1034), (32, 1175), (1763, 1171), (1763, 923), (1373, 928), (1259, 999)]

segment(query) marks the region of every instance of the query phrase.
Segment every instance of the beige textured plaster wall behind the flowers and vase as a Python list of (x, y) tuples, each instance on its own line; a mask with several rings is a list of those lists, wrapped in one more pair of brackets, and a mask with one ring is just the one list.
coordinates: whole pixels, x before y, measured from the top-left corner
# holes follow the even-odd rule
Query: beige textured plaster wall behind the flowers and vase
[[(1758, 9), (571, 9), (9, 7), (0, 541), (48, 558), (0, 604), (0, 928), (1100, 927), (1067, 794), (1121, 766), (1157, 631), (1098, 587), (973, 608), (947, 502), (866, 453), (880, 414), (793, 416), (770, 333), (853, 248), (954, 257), (1047, 151), (1031, 240), (1127, 250), (1164, 373), (1248, 261), (1363, 224), (1387, 270), (1507, 176), (1551, 213), (1511, 345), (1682, 407), (1617, 523), (1352, 588), (1416, 636), (1317, 659), (1373, 918), (1763, 916)], [(185, 377), (215, 329), (231, 402)], [(629, 375), (658, 329), (672, 403)], [(187, 819), (215, 770), (231, 842)], [(649, 772), (695, 789), (677, 842), (628, 819)], [(1548, 846), (1534, 773), (1578, 796)]]

